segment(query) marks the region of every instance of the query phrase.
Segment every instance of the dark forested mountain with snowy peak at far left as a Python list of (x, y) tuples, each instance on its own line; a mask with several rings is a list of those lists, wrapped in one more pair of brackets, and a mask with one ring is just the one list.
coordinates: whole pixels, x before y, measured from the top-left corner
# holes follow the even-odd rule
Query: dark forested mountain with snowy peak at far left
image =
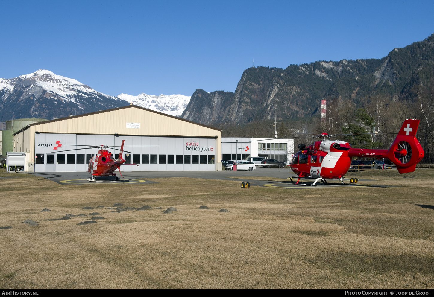
[(39, 69), (16, 78), (0, 78), (0, 117), (53, 119), (128, 105), (75, 79)]

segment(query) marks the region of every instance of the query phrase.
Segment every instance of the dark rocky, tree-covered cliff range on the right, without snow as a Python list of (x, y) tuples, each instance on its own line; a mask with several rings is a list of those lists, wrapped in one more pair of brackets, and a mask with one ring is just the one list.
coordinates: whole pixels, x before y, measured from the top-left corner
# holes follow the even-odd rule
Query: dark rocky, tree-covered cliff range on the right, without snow
[(286, 69), (252, 67), (235, 92), (197, 89), (181, 117), (202, 124), (244, 124), (256, 120), (306, 117), (318, 113), (320, 100), (341, 97), (360, 105), (376, 93), (411, 99), (420, 74), (434, 75), (434, 34), (382, 59), (317, 61)]

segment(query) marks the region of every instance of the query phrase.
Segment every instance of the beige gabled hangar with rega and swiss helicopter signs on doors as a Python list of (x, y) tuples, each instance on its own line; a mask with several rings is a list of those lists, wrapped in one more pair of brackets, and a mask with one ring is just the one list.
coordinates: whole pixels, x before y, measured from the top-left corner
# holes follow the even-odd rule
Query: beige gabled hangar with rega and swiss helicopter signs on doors
[(122, 171), (221, 170), (221, 130), (128, 105), (29, 124), (13, 134), (13, 151), (28, 152), (35, 172), (85, 172), (98, 149), (118, 155)]

